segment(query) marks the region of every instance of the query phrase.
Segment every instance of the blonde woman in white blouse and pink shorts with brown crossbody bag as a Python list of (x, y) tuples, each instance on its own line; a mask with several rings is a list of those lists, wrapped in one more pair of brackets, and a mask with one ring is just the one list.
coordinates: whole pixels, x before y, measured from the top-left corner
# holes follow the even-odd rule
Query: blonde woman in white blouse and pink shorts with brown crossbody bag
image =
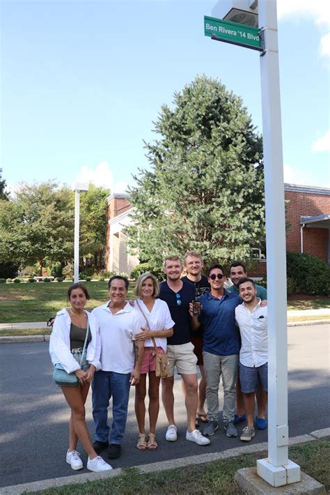
[[(156, 450), (156, 423), (159, 412), (159, 376), (156, 376), (156, 355), (151, 337), (155, 338), (157, 352), (166, 353), (166, 337), (173, 335), (174, 321), (164, 300), (156, 299), (159, 295), (159, 284), (155, 275), (143, 273), (136, 280), (134, 294), (138, 299), (134, 307), (143, 312), (148, 325), (136, 335), (136, 340), (144, 340), (144, 358), (141, 365), (140, 382), (135, 387), (135, 414), (139, 426), (139, 441), (136, 447), (139, 450)], [(149, 374), (149, 436), (146, 435), (146, 376)]]

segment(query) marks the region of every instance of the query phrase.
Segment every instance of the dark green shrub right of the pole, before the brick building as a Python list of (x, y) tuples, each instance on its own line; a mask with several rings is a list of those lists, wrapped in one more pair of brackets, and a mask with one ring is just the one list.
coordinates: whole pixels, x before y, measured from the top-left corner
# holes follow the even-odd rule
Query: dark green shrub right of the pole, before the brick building
[(330, 266), (316, 256), (289, 252), (287, 275), (296, 283), (298, 292), (325, 296), (330, 294)]

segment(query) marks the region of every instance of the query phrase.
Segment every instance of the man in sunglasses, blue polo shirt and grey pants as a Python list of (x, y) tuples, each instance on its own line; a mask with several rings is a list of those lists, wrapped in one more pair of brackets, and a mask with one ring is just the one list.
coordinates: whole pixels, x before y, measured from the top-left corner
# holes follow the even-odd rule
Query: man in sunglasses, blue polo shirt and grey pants
[(191, 307), (191, 326), (193, 330), (203, 323), (204, 345), (203, 360), (207, 386), (207, 416), (209, 423), (203, 434), (212, 436), (218, 429), (219, 381), (223, 382), (223, 427), (227, 436), (237, 436), (234, 426), (235, 386), (239, 359), (239, 333), (235, 323), (235, 307), (240, 304), (239, 297), (223, 288), (225, 280), (223, 267), (210, 266), (207, 272), (210, 292), (201, 296), (202, 311), (200, 317), (194, 317)]

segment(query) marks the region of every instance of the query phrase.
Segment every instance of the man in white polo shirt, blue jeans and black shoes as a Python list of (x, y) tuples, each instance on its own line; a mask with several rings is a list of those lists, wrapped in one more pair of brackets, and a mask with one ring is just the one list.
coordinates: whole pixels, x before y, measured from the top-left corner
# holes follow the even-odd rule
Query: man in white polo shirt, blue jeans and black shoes
[[(94, 374), (92, 383), (93, 447), (100, 454), (109, 446), (109, 459), (120, 457), (129, 387), (139, 383), (144, 353), (144, 342), (135, 340), (135, 336), (141, 333), (145, 323), (141, 314), (126, 302), (128, 283), (126, 277), (111, 277), (108, 284), (110, 300), (93, 310), (100, 326), (101, 339), (101, 370)], [(111, 397), (113, 420), (110, 432), (108, 406)]]

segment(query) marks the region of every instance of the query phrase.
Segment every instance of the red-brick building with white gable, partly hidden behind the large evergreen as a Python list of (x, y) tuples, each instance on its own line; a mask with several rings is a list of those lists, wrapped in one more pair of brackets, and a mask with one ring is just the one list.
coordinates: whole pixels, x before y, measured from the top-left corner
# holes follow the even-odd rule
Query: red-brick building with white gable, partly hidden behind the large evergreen
[[(284, 184), (286, 236), (288, 252), (304, 252), (330, 264), (330, 189), (310, 185)], [(108, 229), (106, 261), (109, 271), (130, 273), (139, 263), (137, 256), (127, 254), (127, 238), (123, 227), (132, 220), (127, 194), (113, 194), (108, 198)], [(256, 249), (257, 257), (261, 250)], [(266, 259), (259, 259), (256, 270), (249, 275), (266, 275)]]

